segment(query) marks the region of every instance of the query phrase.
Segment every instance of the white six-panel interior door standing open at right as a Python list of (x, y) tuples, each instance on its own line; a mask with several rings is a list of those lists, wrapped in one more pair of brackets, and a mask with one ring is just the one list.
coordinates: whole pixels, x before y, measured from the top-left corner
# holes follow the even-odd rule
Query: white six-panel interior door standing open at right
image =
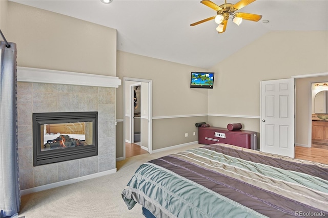
[(295, 157), (294, 78), (261, 81), (260, 150)]

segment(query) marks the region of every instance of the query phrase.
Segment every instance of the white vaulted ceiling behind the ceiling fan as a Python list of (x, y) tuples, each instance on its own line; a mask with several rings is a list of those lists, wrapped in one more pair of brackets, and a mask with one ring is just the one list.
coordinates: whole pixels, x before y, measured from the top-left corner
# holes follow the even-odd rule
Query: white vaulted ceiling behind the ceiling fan
[[(258, 22), (229, 19), (218, 34), (216, 11), (196, 0), (9, 0), (114, 28), (117, 50), (209, 69), (270, 31), (328, 30), (327, 0), (257, 0), (239, 12), (263, 15)], [(224, 0), (213, 0), (217, 5)], [(238, 0), (228, 0), (236, 4)], [(264, 24), (263, 20), (269, 20)], [(301, 32), (300, 32), (301, 33)]]

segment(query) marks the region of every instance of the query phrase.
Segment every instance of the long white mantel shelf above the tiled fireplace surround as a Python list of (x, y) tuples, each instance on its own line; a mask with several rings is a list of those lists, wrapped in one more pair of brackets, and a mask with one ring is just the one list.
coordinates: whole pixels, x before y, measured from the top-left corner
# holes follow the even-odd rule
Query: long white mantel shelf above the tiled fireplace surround
[(88, 85), (118, 88), (121, 80), (116, 76), (55, 71), (38, 68), (17, 67), (18, 82), (42, 82), (54, 84)]

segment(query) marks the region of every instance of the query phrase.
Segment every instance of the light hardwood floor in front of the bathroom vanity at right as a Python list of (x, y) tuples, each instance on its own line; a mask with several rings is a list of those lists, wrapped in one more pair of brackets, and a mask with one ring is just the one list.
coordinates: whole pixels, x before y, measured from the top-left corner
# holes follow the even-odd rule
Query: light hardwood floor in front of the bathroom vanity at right
[(312, 147), (296, 146), (295, 158), (328, 164), (328, 144), (312, 143)]

